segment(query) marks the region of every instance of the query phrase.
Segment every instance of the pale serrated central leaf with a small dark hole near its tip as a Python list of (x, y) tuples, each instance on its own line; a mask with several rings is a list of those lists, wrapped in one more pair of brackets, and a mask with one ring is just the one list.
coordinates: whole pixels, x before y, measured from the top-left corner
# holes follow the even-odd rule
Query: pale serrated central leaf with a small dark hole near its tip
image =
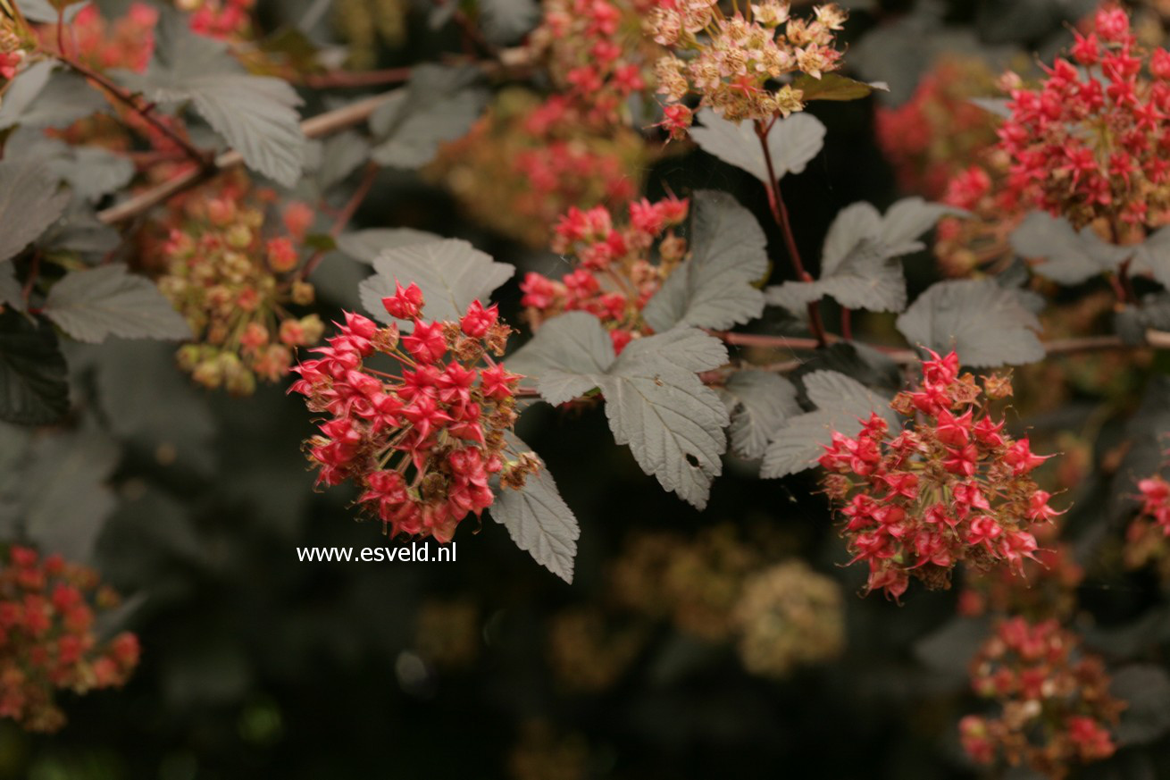
[(723, 471), (729, 419), (695, 372), (725, 362), (721, 341), (684, 328), (631, 342), (598, 377), (614, 442), (628, 444), (642, 471), (698, 509)]

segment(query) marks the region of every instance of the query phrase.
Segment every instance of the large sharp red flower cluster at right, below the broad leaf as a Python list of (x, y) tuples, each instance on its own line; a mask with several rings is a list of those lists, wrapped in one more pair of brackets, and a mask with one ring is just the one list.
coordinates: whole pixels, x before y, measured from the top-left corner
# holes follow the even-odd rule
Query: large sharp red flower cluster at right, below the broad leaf
[(1028, 477), (1046, 458), (1026, 438), (1012, 440), (989, 411), (990, 401), (1011, 395), (1010, 382), (985, 377), (980, 390), (970, 374), (959, 376), (955, 353), (934, 355), (922, 374), (916, 390), (890, 403), (917, 417), (911, 427), (890, 438), (875, 413), (856, 438), (834, 432), (820, 457), (831, 472), (825, 491), (846, 518), (851, 562), (869, 565), (868, 591), (895, 598), (911, 574), (949, 587), (959, 561), (1023, 572), (1037, 556), (1032, 526), (1059, 514)]

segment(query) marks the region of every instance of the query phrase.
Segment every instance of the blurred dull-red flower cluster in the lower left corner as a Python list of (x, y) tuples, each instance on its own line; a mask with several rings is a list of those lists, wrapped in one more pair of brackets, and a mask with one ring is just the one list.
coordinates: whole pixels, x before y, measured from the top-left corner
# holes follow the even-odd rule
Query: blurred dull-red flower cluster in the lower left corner
[(12, 547), (7, 559), (0, 568), (0, 717), (56, 731), (66, 716), (55, 691), (122, 685), (138, 665), (138, 637), (98, 642), (95, 611), (118, 600), (96, 573), (27, 547)]

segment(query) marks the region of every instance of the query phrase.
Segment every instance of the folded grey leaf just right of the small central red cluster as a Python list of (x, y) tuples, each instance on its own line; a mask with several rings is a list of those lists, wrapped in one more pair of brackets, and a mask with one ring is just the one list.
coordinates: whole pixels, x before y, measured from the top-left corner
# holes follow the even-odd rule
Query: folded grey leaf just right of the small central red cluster
[(730, 328), (763, 314), (764, 294), (753, 282), (768, 274), (768, 239), (751, 212), (727, 193), (697, 192), (691, 235), (691, 256), (646, 303), (646, 322), (659, 333)]

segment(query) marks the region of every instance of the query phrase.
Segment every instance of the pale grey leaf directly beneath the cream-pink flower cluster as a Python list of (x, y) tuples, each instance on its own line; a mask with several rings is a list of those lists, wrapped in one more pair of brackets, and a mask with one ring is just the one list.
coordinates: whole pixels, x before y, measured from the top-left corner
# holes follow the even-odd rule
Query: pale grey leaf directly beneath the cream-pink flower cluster
[[(708, 155), (741, 167), (765, 185), (769, 184), (768, 164), (751, 122), (729, 122), (711, 109), (697, 114), (701, 126), (690, 129), (690, 137)], [(778, 179), (789, 173), (800, 173), (825, 145), (825, 125), (810, 114), (793, 114), (777, 119), (768, 134), (768, 149), (772, 170)]]

